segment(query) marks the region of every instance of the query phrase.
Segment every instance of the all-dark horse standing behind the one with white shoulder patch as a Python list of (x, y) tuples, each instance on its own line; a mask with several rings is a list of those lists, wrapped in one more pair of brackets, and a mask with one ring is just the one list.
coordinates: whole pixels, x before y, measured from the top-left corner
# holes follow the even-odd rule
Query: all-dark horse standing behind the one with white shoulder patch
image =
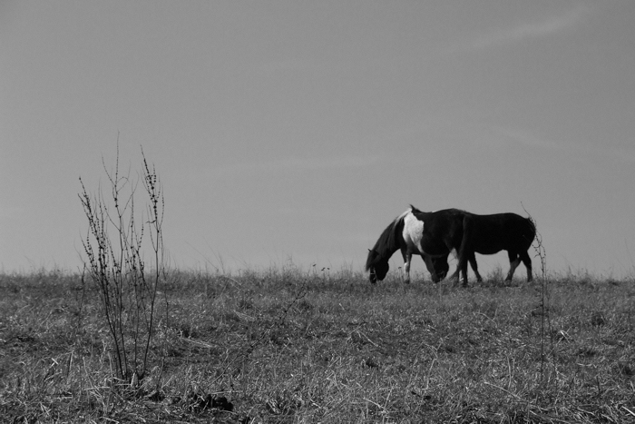
[(454, 244), (457, 251), (458, 264), (450, 279), (458, 281), (459, 272), (463, 274), (463, 284), (467, 285), (467, 262), (474, 269), (477, 281), (482, 281), (476, 268), (474, 253), (491, 255), (499, 251), (507, 251), (510, 269), (505, 281), (512, 281), (521, 261), (527, 269), (527, 281), (532, 281), (532, 260), (529, 248), (536, 236), (536, 227), (532, 220), (515, 213), (494, 213), (493, 215), (477, 215), (463, 212), (461, 222), (463, 238), (460, 245)]

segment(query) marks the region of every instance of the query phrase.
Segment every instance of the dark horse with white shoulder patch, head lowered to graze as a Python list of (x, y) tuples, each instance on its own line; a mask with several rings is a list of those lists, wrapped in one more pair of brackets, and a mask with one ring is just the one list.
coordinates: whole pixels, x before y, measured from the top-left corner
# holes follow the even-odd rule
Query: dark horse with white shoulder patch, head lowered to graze
[[(373, 284), (377, 280), (384, 280), (390, 268), (388, 260), (396, 251), (401, 251), (404, 258), (406, 283), (410, 282), (410, 263), (413, 254), (421, 255), (432, 281), (443, 280), (450, 269), (447, 263), (447, 256), (452, 251), (450, 246), (458, 246), (461, 243), (462, 232), (454, 232), (456, 226), (451, 225), (453, 220), (457, 220), (454, 212), (460, 211), (421, 212), (410, 205), (410, 209), (388, 224), (373, 249), (368, 250), (368, 280)], [(446, 232), (447, 228), (453, 231)]]

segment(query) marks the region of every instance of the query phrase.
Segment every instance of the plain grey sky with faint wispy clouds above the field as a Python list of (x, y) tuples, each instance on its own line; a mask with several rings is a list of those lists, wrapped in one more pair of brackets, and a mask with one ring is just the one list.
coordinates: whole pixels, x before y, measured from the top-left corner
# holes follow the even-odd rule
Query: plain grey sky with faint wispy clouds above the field
[(156, 167), (175, 268), (362, 271), (412, 203), (531, 214), (548, 271), (632, 276), (634, 20), (629, 0), (3, 1), (0, 271), (81, 269), (79, 178), (107, 187), (119, 143), (132, 178), (142, 150)]

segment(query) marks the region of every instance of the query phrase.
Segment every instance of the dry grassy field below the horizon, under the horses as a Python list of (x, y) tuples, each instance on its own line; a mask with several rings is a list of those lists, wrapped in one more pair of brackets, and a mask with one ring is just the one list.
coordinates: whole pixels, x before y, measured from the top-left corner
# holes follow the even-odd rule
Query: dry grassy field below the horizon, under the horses
[(92, 284), (0, 274), (0, 421), (635, 422), (634, 281), (500, 275), (172, 271), (130, 388)]

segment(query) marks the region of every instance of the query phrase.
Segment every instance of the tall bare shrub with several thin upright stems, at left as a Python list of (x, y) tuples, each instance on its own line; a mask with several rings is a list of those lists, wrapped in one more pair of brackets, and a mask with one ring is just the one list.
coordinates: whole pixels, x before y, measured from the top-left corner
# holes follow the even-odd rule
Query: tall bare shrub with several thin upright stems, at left
[[(96, 194), (89, 194), (80, 178), (79, 198), (88, 221), (83, 241), (84, 269), (101, 296), (116, 376), (138, 384), (148, 370), (157, 291), (166, 278), (161, 227), (165, 204), (161, 182), (143, 151), (141, 180), (147, 203), (141, 213), (135, 211), (134, 202), (138, 181), (133, 181), (130, 173), (122, 176), (119, 171), (119, 145), (114, 173), (105, 163), (103, 169), (112, 202), (106, 201), (101, 186)], [(150, 236), (149, 249), (145, 249), (145, 234)]]

